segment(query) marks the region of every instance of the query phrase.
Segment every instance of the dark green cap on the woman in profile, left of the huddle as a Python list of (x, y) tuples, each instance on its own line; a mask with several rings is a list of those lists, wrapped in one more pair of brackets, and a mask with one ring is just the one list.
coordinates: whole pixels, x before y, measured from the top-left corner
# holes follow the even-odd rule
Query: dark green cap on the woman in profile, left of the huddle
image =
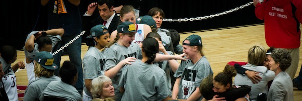
[[(106, 29), (107, 31), (103, 32), (104, 29)], [(98, 36), (102, 36), (107, 33), (109, 33), (108, 29), (104, 25), (100, 24), (100, 25), (96, 25), (96, 26), (92, 27), (90, 29), (90, 36), (87, 36), (86, 38), (98, 37)]]

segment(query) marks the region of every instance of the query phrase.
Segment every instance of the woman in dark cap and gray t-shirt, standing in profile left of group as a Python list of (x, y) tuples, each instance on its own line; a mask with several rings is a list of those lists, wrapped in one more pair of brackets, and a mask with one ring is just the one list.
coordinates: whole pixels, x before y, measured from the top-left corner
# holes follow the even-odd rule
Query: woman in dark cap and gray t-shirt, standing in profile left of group
[(109, 44), (110, 34), (104, 25), (96, 25), (91, 28), (90, 36), (87, 36), (86, 45), (89, 46), (83, 58), (84, 69), (84, 91), (83, 101), (90, 101), (92, 95), (90, 92), (92, 79), (105, 75), (105, 59), (107, 51), (106, 45)]

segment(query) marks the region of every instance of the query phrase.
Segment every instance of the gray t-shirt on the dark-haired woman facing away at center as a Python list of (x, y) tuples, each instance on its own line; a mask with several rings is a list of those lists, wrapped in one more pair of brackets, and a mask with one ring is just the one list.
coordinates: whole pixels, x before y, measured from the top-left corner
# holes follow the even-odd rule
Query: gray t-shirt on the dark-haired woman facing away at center
[(119, 86), (125, 88), (122, 100), (163, 100), (170, 91), (166, 73), (154, 64), (135, 60), (125, 65)]

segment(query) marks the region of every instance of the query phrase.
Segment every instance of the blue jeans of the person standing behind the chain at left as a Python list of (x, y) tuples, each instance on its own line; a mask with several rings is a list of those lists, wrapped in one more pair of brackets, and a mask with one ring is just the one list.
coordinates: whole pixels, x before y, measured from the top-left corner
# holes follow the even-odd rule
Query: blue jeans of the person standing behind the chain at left
[[(79, 31), (79, 34), (80, 33), (81, 32)], [(62, 41), (57, 44), (58, 45), (57, 47), (54, 47), (55, 49), (53, 49), (54, 51), (52, 51), (52, 53), (60, 49), (62, 46), (64, 46), (70, 40), (74, 39), (79, 34), (74, 34), (73, 36), (63, 36)], [(81, 45), (82, 45), (82, 36), (79, 39), (73, 41), (73, 43), (69, 44), (67, 47), (65, 47), (65, 49), (68, 52), (70, 62), (78, 69), (78, 81), (73, 86), (82, 95), (84, 79), (83, 79), (83, 66), (82, 66), (82, 58), (81, 58)], [(58, 66), (58, 69), (55, 70), (55, 75), (57, 76), (59, 76), (61, 53), (62, 51), (54, 55), (54, 63)]]

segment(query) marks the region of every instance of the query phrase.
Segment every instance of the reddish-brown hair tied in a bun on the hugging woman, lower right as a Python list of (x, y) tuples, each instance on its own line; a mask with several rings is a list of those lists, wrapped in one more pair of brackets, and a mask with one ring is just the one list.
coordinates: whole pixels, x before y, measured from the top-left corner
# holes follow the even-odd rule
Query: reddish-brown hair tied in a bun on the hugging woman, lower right
[[(226, 86), (228, 83), (230, 85), (232, 85), (232, 83), (233, 83), (232, 78), (235, 77), (236, 74), (237, 74), (237, 71), (236, 71), (235, 67), (232, 65), (226, 64), (223, 72), (218, 73), (214, 77), (214, 80), (224, 86)], [(232, 87), (230, 87), (230, 88), (232, 88)]]

